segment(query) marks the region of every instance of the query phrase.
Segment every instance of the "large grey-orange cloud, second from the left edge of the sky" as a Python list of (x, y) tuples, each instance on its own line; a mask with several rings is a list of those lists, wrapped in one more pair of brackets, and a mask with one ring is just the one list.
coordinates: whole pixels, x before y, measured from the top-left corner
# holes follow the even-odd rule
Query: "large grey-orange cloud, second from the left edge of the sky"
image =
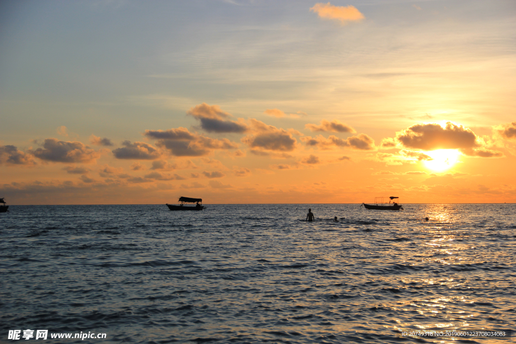
[(45, 139), (43, 148), (31, 152), (35, 157), (53, 162), (94, 163), (100, 153), (78, 141), (59, 141), (55, 138)]

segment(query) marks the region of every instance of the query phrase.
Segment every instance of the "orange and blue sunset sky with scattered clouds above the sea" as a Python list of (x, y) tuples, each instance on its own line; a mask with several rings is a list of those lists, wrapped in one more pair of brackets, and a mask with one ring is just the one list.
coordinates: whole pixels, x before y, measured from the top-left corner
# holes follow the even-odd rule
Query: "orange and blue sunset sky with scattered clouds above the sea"
[(0, 2), (8, 204), (516, 203), (512, 0)]

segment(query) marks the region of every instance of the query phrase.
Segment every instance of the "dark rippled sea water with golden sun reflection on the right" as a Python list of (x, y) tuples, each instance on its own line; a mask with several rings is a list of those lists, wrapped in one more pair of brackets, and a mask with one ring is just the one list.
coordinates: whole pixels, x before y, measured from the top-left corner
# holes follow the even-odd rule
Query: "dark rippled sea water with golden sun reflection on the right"
[(516, 206), (404, 207), (11, 206), (0, 341), (47, 329), (103, 343), (447, 343), (401, 334), (514, 329)]

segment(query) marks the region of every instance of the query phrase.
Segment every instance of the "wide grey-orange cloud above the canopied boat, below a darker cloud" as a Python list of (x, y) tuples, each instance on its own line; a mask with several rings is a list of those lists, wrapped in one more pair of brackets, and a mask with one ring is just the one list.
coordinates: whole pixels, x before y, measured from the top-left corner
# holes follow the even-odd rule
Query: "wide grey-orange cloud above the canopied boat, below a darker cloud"
[(216, 149), (238, 148), (228, 139), (212, 139), (190, 133), (187, 128), (183, 127), (168, 130), (145, 130), (145, 136), (157, 139), (156, 145), (159, 148), (167, 149), (175, 156), (204, 156)]

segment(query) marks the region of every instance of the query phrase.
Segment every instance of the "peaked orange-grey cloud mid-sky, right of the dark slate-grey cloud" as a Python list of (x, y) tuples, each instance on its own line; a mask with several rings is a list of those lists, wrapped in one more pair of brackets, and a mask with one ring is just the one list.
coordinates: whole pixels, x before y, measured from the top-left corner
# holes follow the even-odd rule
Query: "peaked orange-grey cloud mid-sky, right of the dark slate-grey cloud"
[(250, 119), (253, 134), (241, 139), (251, 148), (268, 151), (291, 152), (296, 148), (296, 139), (285, 129), (267, 125), (261, 121)]

